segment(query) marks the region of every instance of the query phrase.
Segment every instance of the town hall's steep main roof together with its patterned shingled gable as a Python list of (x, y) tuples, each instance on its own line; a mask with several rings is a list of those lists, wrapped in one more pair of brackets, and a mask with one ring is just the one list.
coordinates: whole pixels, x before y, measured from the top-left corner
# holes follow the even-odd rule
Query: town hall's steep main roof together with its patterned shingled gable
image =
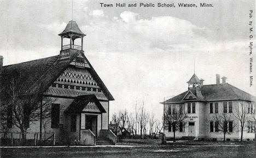
[[(3, 66), (0, 71), (1, 92), (8, 86), (9, 78), (19, 73), (21, 74), (21, 82), (24, 84), (25, 95), (32, 94), (40, 89), (46, 95), (78, 96), (95, 94), (98, 99), (114, 100), (83, 53), (71, 50), (66, 54), (66, 56), (53, 56)], [(56, 85), (58, 86), (56, 87)], [(62, 88), (63, 86), (64, 88)], [(70, 87), (68, 88), (68, 86)], [(78, 89), (74, 89), (74, 87)], [(73, 90), (71, 90), (72, 88)]]

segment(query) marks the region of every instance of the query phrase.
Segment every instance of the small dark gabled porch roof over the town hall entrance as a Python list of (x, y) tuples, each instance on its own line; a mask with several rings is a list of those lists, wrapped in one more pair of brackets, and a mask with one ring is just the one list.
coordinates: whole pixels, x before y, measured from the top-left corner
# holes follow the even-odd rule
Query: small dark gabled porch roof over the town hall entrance
[(106, 113), (106, 110), (94, 94), (77, 96), (77, 98), (75, 98), (74, 101), (67, 107), (65, 113), (80, 113), (89, 102), (94, 102), (100, 112)]

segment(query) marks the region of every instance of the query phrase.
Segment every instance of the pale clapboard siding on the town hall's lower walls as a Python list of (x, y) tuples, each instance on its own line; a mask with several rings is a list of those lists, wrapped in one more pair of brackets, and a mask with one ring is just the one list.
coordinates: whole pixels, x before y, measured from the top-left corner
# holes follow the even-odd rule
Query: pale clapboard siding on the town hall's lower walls
[[(93, 114), (93, 113), (82, 113), (77, 114), (77, 130), (75, 132), (71, 131), (71, 119), (70, 114), (65, 114), (64, 111), (66, 108), (72, 103), (74, 99), (69, 98), (50, 98), (53, 100), (53, 104), (60, 104), (60, 124), (63, 124), (63, 130), (65, 130), (65, 133), (67, 133), (68, 137), (70, 139), (77, 139), (79, 140), (79, 131), (80, 131), (80, 116), (81, 116), (81, 129), (85, 129), (85, 114), (86, 115), (95, 115), (97, 116), (97, 136), (100, 136), (100, 130), (101, 129), (108, 129), (108, 118), (109, 118), (109, 102), (108, 101), (101, 101), (101, 105), (106, 110), (106, 113), (102, 114)], [(102, 118), (101, 118), (102, 117)], [(20, 132), (20, 129), (18, 127), (13, 126), (13, 128), (10, 129), (10, 132)], [(31, 121), (30, 122), (30, 128), (27, 129), (27, 132), (30, 133), (27, 135), (28, 139), (34, 138), (34, 133), (40, 132), (40, 121)], [(42, 132), (43, 132), (43, 138), (44, 138), (44, 132), (45, 137), (49, 137), (50, 135), (55, 133), (56, 140), (58, 141), (61, 138), (61, 131), (60, 127), (53, 129), (51, 128), (51, 118), (43, 120), (42, 125)], [(13, 135), (14, 138), (19, 138), (19, 134)], [(39, 137), (39, 135), (38, 135)]]

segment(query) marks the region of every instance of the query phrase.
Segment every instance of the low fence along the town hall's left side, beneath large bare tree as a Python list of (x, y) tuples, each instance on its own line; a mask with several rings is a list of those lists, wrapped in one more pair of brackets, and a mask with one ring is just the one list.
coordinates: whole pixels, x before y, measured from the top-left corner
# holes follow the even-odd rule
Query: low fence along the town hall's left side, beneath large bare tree
[(1, 147), (3, 146), (37, 146), (55, 145), (54, 132), (0, 132)]

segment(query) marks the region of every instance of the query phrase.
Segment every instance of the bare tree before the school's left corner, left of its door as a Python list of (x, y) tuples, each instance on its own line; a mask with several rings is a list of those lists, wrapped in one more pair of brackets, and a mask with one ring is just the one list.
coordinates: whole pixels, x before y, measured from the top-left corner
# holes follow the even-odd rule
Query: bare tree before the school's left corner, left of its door
[(170, 112), (167, 108), (165, 109), (164, 114), (164, 125), (167, 127), (172, 127), (173, 129), (173, 142), (176, 141), (175, 133), (179, 129), (180, 125), (185, 126), (187, 121), (187, 113), (184, 112), (184, 109), (173, 108), (173, 111)]

